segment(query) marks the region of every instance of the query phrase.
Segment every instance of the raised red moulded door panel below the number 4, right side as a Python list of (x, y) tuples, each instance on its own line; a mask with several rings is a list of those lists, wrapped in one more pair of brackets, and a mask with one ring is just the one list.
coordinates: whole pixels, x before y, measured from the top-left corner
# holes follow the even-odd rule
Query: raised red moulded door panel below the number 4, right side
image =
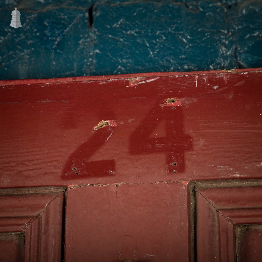
[(192, 261), (261, 261), (262, 181), (190, 183)]

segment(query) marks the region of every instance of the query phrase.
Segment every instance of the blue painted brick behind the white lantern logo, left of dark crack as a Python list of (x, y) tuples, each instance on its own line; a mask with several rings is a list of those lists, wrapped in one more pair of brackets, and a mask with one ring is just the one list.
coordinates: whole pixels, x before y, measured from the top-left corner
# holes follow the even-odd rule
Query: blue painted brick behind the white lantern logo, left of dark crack
[(23, 27), (9, 26), (1, 11), (0, 78), (50, 78), (90, 75), (89, 17), (86, 10), (23, 12)]

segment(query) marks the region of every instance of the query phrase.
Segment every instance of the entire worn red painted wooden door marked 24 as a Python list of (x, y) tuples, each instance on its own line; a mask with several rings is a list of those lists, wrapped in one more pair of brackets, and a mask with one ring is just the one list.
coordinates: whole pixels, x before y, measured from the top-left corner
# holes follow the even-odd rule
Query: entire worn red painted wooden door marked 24
[(0, 259), (260, 261), (261, 82), (0, 81)]

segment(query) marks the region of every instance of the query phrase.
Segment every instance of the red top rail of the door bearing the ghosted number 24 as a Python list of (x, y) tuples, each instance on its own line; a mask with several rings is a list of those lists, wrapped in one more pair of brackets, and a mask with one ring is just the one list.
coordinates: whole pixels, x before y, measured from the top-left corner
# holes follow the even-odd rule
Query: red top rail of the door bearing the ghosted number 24
[[(261, 79), (247, 69), (1, 82), (0, 187), (261, 178)], [(94, 130), (101, 120), (114, 126)]]

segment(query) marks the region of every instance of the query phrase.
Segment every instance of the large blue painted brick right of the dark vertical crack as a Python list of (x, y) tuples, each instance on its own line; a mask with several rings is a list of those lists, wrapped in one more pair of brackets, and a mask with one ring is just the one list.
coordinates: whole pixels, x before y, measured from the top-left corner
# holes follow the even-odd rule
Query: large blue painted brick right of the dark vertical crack
[(92, 74), (234, 66), (226, 9), (218, 2), (96, 4)]

